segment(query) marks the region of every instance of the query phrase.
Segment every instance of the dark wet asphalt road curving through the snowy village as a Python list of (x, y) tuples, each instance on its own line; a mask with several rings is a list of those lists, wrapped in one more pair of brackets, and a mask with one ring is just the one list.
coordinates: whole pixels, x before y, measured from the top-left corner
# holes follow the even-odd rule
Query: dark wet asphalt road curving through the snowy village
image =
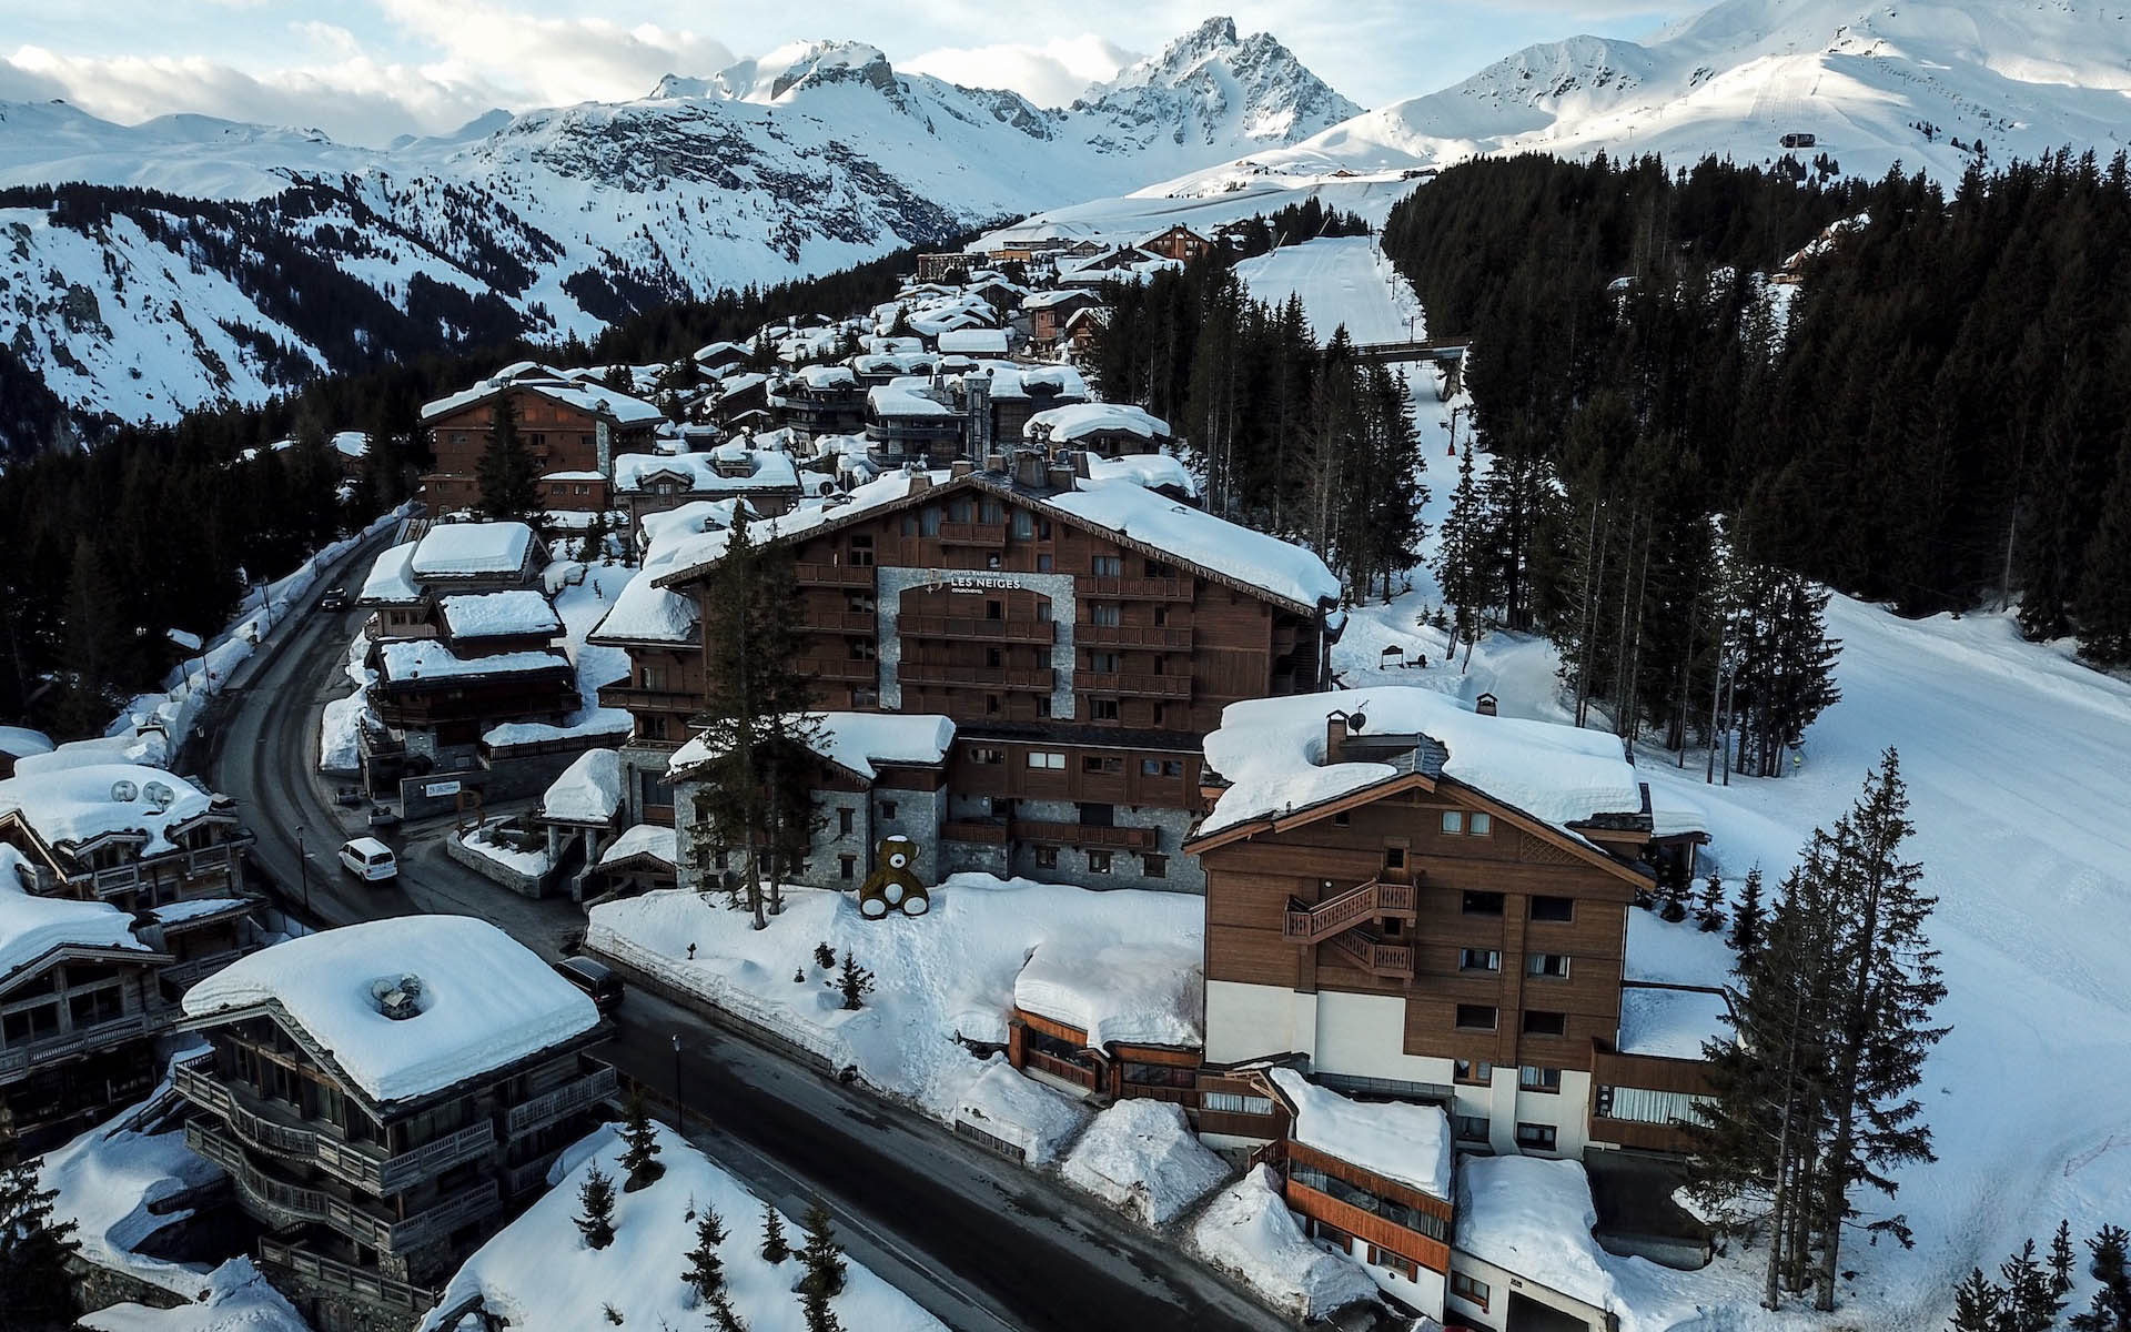
[[(381, 546), (356, 550), (320, 586), (358, 584)], [(339, 870), (339, 844), (369, 829), (315, 776), (318, 710), (347, 693), (341, 665), (358, 622), (358, 612), (309, 610), (247, 663), (213, 718), (207, 771), (241, 801), (256, 863), (292, 910), (324, 925), (460, 912), (558, 957), (584, 927), (578, 908), (469, 872), (443, 855), (435, 827), (388, 838), (401, 850), (392, 887)], [(693, 1142), (791, 1215), (820, 1196), (850, 1255), (957, 1332), (1291, 1326), (1078, 1193), (658, 995), (629, 995), (601, 1057), (663, 1093), (678, 1076)]]

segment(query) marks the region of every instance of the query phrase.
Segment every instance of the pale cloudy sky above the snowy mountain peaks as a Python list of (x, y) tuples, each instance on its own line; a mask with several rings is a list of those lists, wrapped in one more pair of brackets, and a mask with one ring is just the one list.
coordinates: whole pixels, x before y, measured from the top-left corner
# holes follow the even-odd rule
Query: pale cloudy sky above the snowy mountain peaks
[(812, 38), (1042, 104), (1215, 13), (1268, 30), (1364, 107), (1434, 92), (1534, 40), (1645, 36), (1694, 0), (0, 0), (0, 100), (68, 98), (117, 121), (194, 111), (345, 143), (484, 111), (641, 96), (665, 72)]

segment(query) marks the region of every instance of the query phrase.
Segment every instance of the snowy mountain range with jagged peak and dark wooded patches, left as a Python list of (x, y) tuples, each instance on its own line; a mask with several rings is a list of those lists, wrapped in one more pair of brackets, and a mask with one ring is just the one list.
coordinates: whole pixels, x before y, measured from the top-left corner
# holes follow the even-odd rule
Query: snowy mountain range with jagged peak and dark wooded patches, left
[[(590, 337), (680, 296), (1123, 194), (1353, 111), (1276, 40), (1242, 38), (1227, 19), (1070, 109), (904, 75), (861, 43), (784, 47), (712, 77), (667, 77), (631, 102), (492, 113), (386, 149), (6, 102), (0, 188), (81, 181), (173, 198), (102, 196), (70, 220), (43, 198), (0, 200), (28, 205), (0, 207), (0, 345), (79, 409), (168, 420), (364, 354)], [(273, 298), (286, 273), (247, 256), (275, 237), (339, 273), (318, 281), (362, 288), (328, 296), (298, 279), (296, 305), (337, 307), (345, 343)]]

